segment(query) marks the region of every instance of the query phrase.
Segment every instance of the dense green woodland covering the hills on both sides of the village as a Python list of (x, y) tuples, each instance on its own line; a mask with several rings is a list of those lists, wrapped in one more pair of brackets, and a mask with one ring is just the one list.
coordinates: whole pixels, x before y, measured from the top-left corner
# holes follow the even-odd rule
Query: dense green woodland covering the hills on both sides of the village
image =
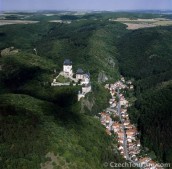
[[(161, 15), (20, 15), (40, 22), (0, 27), (0, 50), (11, 46), (19, 50), (0, 56), (1, 169), (39, 169), (50, 161), (48, 152), (57, 157), (54, 168), (101, 169), (107, 161), (124, 162), (117, 143), (94, 117), (108, 106), (110, 97), (104, 83), (98, 82), (100, 73), (108, 77), (107, 83), (120, 74), (134, 78), (137, 101), (130, 116), (138, 124), (142, 143), (156, 159), (172, 161), (172, 28), (129, 31), (124, 24), (108, 20)], [(48, 22), (54, 19), (72, 22)], [(91, 74), (93, 91), (81, 102), (77, 102), (80, 86), (50, 86), (66, 58), (72, 60), (74, 71), (83, 68)]]

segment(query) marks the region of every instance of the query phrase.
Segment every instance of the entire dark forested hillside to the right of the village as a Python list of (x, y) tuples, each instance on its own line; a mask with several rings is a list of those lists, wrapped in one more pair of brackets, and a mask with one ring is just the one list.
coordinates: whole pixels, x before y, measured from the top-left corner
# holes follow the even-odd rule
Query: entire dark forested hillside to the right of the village
[(131, 31), (118, 48), (121, 73), (135, 79), (130, 115), (142, 143), (155, 152), (153, 158), (172, 162), (172, 27)]

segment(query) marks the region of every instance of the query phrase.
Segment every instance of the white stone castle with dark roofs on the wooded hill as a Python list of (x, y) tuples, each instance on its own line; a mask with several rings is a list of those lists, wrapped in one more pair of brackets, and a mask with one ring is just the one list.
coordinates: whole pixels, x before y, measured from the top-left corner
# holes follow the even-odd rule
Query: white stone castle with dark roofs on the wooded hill
[(90, 73), (85, 73), (81, 68), (79, 68), (76, 73), (73, 73), (73, 65), (71, 60), (65, 59), (63, 63), (63, 71), (61, 71), (59, 75), (53, 80), (51, 86), (70, 85), (70, 83), (57, 82), (57, 79), (60, 75), (73, 81), (74, 86), (76, 83), (82, 86), (81, 91), (78, 92), (78, 101), (80, 101), (82, 97), (85, 97), (87, 93), (91, 92)]

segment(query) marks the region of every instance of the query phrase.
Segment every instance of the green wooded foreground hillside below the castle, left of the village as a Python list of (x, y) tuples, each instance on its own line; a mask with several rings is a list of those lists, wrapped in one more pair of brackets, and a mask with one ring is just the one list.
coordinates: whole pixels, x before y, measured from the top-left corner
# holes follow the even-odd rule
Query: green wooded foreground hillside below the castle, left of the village
[[(1, 95), (1, 168), (40, 168), (53, 162), (65, 168), (102, 168), (113, 159), (103, 127), (96, 119), (21, 94)], [(119, 158), (119, 157), (116, 157)]]

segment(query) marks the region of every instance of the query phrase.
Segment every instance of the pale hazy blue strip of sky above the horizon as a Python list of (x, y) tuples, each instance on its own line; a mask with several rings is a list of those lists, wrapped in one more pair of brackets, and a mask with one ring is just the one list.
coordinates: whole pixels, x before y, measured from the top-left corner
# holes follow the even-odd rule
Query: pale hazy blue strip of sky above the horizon
[(172, 0), (0, 0), (7, 10), (172, 10)]

